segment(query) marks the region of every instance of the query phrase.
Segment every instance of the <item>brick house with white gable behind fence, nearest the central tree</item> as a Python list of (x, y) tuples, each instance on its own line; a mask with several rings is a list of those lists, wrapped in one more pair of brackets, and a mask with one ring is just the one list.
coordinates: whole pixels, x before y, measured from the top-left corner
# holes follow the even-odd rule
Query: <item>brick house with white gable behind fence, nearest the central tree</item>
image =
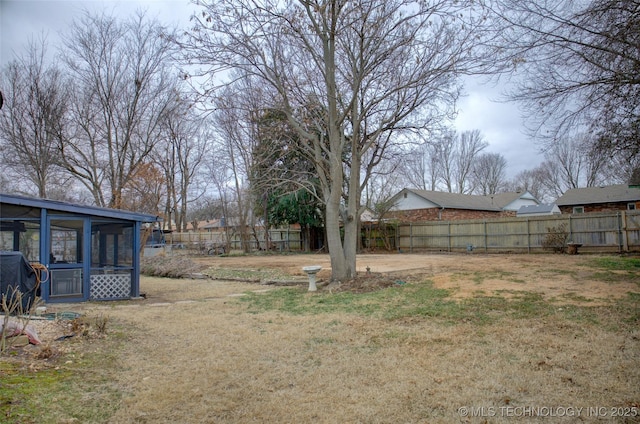
[(528, 191), (478, 196), (409, 188), (402, 189), (391, 201), (394, 207), (385, 218), (403, 222), (515, 216), (522, 206), (539, 204)]

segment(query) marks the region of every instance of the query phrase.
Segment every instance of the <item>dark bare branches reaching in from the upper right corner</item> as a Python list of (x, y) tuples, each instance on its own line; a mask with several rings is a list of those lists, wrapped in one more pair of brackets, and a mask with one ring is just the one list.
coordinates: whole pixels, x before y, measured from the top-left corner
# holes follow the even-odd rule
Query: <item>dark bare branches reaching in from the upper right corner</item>
[(519, 78), (513, 99), (549, 143), (585, 129), (596, 147), (640, 152), (640, 2), (490, 0), (501, 52)]

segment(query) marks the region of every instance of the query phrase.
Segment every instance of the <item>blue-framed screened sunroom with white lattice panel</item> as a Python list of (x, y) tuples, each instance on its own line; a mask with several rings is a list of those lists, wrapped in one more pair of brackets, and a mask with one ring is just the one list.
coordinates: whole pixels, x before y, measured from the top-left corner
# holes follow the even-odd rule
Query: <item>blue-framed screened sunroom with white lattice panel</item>
[[(0, 250), (44, 265), (46, 302), (130, 299), (140, 295), (143, 225), (154, 215), (0, 194)], [(44, 280), (44, 278), (43, 278)]]

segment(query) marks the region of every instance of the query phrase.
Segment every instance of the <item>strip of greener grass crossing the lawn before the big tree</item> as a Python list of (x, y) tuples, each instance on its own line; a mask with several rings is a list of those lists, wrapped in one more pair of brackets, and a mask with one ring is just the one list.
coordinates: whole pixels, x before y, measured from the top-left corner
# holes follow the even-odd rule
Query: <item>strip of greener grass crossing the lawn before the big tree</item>
[[(546, 316), (597, 323), (597, 308), (566, 305), (557, 307), (540, 293), (501, 291), (503, 296), (478, 296), (455, 301), (449, 291), (426, 281), (406, 284), (370, 293), (308, 293), (302, 288), (285, 288), (268, 293), (247, 293), (240, 300), (252, 313), (278, 311), (292, 315), (317, 315), (343, 312), (385, 320), (440, 319), (448, 324), (471, 322), (494, 324), (501, 319), (533, 319)], [(620, 312), (633, 319), (637, 302), (620, 302)], [(602, 308), (603, 310), (606, 308)], [(636, 311), (637, 315), (637, 311)]]

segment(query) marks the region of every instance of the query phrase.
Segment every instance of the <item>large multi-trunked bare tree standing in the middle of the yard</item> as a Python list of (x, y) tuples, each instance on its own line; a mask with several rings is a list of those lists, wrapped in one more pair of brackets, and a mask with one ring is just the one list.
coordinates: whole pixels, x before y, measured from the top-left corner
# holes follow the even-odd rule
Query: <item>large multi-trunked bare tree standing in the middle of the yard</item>
[[(242, 69), (275, 90), (268, 106), (282, 106), (320, 181), (332, 278), (354, 277), (361, 172), (398, 135), (447, 115), (456, 77), (479, 65), (483, 16), (444, 0), (196, 3), (191, 59), (210, 64), (212, 77)], [(300, 113), (310, 104), (318, 107)]]

